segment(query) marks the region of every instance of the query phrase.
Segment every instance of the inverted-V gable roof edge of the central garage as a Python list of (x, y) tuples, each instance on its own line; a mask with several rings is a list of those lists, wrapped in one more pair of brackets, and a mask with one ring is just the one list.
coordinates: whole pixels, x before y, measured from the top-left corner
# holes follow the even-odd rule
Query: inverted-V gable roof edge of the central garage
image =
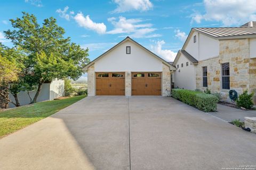
[(146, 50), (146, 52), (148, 52), (149, 54), (153, 55), (155, 58), (157, 58), (158, 60), (162, 61), (165, 65), (170, 67), (170, 70), (176, 70), (175, 67), (170, 64), (169, 62), (166, 62), (165, 60), (163, 60), (163, 58), (159, 57), (158, 55), (156, 55), (155, 53), (151, 52), (150, 50), (148, 50), (147, 48), (143, 47), (142, 45), (140, 45), (139, 43), (137, 43), (136, 41), (134, 41), (133, 39), (131, 39), (130, 37), (126, 37), (124, 40), (122, 40), (120, 43), (118, 43), (117, 45), (115, 45), (114, 47), (110, 48), (109, 50), (107, 50), (107, 52), (101, 54), (99, 57), (95, 58), (92, 62), (90, 62), (89, 64), (87, 64), (85, 67), (83, 67), (84, 71), (87, 71), (88, 68), (93, 65), (96, 61), (100, 60), (100, 58), (104, 57), (106, 54), (108, 54), (109, 52), (111, 52), (112, 50), (114, 50), (115, 48), (119, 47), (120, 45), (122, 45), (123, 43), (125, 43), (126, 41), (131, 41), (132, 43), (138, 45), (140, 48), (142, 48), (143, 50)]

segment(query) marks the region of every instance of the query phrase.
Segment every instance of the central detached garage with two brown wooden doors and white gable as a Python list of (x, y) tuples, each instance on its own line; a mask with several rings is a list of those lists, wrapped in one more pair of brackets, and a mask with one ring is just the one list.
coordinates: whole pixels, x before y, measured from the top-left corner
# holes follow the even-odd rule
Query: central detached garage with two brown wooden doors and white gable
[(170, 96), (172, 64), (126, 37), (83, 69), (88, 96)]

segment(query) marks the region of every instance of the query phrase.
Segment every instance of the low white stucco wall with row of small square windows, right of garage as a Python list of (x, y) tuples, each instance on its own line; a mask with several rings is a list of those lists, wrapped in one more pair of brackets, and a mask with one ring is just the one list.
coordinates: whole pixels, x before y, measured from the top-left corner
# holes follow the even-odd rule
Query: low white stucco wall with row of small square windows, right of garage
[[(188, 66), (186, 66), (186, 63), (188, 62)], [(181, 64), (183, 63), (183, 67), (181, 67)], [(195, 65), (191, 64), (190, 61), (181, 54), (179, 57), (179, 60), (177, 61), (177, 64), (179, 64), (179, 68), (173, 73), (174, 79), (172, 80), (174, 82), (174, 87), (177, 88), (184, 88), (189, 90), (195, 90), (196, 89), (196, 74), (195, 74)]]

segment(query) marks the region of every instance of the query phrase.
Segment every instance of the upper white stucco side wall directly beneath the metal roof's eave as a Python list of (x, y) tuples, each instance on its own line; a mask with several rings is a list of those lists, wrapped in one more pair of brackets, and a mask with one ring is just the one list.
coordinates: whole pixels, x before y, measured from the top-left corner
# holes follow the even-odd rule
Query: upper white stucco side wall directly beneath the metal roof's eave
[(220, 53), (219, 40), (213, 39), (198, 33), (199, 43), (199, 57), (198, 61), (206, 60), (208, 58), (216, 57)]

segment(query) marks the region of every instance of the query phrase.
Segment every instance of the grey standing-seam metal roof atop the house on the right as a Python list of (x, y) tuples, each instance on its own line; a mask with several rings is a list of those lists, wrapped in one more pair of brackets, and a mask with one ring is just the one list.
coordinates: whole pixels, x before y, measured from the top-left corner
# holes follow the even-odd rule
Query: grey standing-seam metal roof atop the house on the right
[(215, 38), (256, 35), (256, 27), (193, 28)]

